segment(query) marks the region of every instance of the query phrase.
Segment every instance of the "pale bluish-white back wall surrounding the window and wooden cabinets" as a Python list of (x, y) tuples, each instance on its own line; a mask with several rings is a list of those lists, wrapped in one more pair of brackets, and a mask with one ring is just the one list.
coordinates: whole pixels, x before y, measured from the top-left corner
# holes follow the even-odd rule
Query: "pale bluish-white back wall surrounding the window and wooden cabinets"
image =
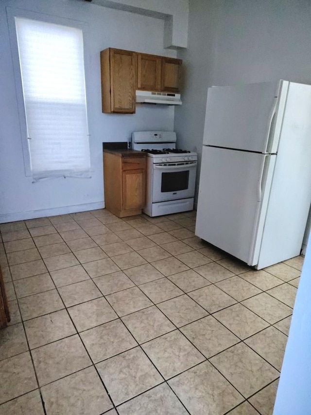
[[(6, 6), (81, 20), (89, 24), (86, 84), (91, 179), (54, 179), (32, 183), (25, 176), (17, 95)], [(132, 114), (103, 114), (99, 53), (107, 47), (176, 56), (163, 49), (164, 20), (108, 9), (86, 1), (1, 0), (0, 2), (0, 222), (104, 206), (103, 141), (124, 141), (144, 129), (173, 130), (172, 107), (138, 107)]]

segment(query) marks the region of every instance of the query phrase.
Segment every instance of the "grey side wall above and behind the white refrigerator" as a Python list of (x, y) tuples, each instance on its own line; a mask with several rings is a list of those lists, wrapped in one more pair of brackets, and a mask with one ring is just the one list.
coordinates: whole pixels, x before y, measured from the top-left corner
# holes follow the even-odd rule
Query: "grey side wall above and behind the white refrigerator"
[(179, 145), (201, 153), (207, 87), (287, 79), (311, 84), (310, 0), (190, 0)]

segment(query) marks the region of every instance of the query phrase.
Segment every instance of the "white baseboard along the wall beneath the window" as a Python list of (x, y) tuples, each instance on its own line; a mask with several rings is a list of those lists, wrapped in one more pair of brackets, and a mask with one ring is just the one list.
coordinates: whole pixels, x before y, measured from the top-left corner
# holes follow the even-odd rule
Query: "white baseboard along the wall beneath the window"
[(28, 212), (16, 212), (0, 215), (0, 223), (16, 222), (17, 220), (36, 219), (37, 217), (66, 215), (68, 213), (85, 212), (87, 210), (104, 209), (104, 200), (101, 202), (84, 203), (81, 205), (61, 206), (51, 209), (38, 209)]

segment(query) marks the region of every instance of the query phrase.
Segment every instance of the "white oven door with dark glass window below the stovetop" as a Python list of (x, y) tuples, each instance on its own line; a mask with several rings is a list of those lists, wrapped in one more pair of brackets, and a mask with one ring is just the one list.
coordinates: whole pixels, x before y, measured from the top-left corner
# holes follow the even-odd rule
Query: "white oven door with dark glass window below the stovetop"
[(197, 162), (153, 165), (152, 202), (193, 198)]

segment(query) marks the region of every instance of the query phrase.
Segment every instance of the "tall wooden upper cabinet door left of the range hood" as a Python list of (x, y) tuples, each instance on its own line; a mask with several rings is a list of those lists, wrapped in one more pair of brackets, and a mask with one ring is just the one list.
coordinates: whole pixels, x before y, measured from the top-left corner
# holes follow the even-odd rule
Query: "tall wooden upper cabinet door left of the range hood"
[(136, 91), (136, 54), (110, 49), (112, 112), (134, 113)]

